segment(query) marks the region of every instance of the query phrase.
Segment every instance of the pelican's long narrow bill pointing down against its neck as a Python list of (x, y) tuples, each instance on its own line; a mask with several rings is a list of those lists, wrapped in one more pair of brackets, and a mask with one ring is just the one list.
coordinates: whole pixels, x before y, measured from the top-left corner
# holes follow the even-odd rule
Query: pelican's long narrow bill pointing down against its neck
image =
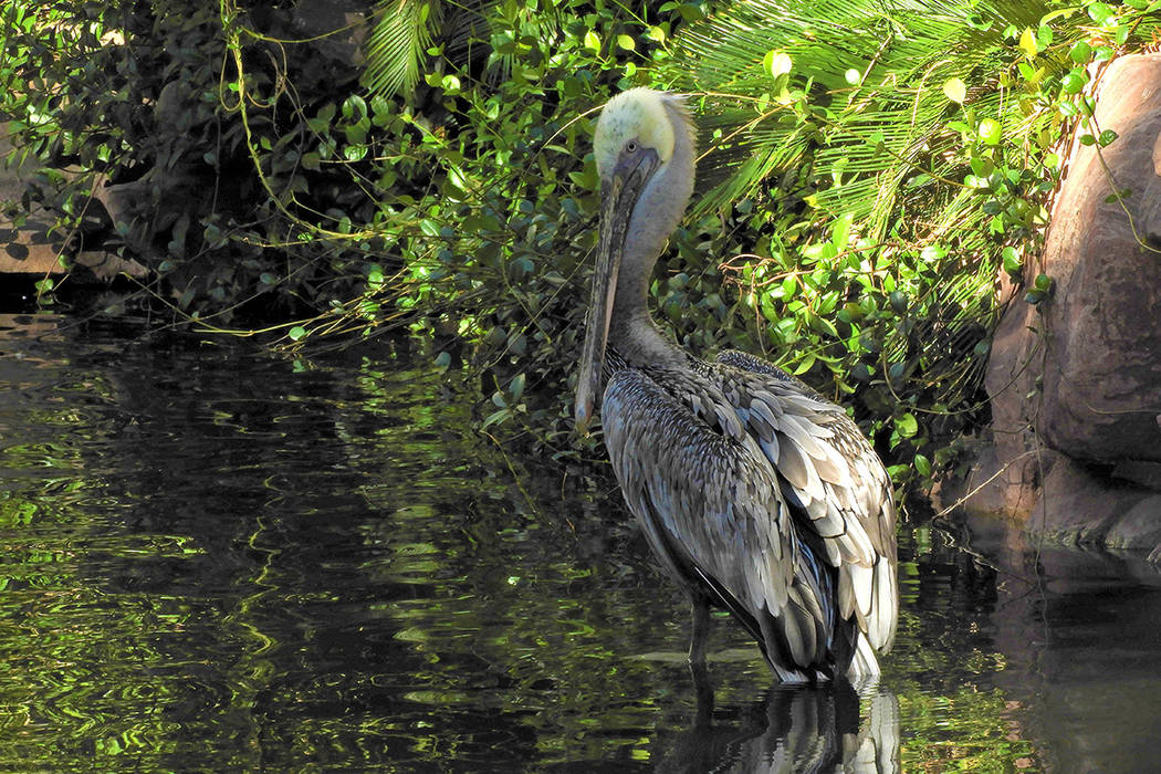
[[(620, 211), (623, 186), (619, 176), (614, 175), (603, 189), (597, 266), (592, 272), (589, 323), (585, 327), (584, 348), (580, 350), (580, 370), (577, 371), (576, 425), (582, 435), (589, 432), (593, 403), (600, 392), (605, 346), (608, 343), (608, 325), (613, 319), (613, 297), (616, 295), (616, 275), (621, 270), (625, 231), (632, 212)], [(626, 198), (630, 200), (628, 203), (632, 205), (632, 197)]]

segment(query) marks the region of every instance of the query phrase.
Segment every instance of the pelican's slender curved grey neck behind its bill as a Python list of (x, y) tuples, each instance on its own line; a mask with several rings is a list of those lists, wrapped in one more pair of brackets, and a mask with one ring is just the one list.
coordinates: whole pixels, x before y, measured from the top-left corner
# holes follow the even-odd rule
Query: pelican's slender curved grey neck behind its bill
[(649, 317), (652, 269), (693, 195), (693, 124), (677, 100), (665, 101), (673, 124), (673, 153), (642, 189), (625, 237), (608, 342), (630, 364), (678, 364), (685, 353)]

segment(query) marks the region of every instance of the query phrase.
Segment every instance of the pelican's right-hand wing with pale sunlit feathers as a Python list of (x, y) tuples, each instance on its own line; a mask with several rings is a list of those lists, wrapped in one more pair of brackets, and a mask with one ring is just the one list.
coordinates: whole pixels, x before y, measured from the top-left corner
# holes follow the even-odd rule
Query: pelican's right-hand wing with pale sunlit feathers
[[(890, 648), (899, 612), (890, 478), (846, 412), (781, 369), (723, 352), (714, 369), (738, 421), (778, 470), (799, 523), (838, 569), (838, 608), (871, 646)], [(856, 658), (873, 654), (860, 651)]]

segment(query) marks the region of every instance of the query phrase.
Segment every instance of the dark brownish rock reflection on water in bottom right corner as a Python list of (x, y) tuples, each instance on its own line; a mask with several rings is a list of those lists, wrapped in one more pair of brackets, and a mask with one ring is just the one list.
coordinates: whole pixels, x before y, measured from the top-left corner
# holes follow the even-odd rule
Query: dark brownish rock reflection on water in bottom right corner
[(965, 516), (964, 550), (995, 569), (993, 681), (1054, 771), (1161, 767), (1161, 571), (1139, 552), (1030, 545)]

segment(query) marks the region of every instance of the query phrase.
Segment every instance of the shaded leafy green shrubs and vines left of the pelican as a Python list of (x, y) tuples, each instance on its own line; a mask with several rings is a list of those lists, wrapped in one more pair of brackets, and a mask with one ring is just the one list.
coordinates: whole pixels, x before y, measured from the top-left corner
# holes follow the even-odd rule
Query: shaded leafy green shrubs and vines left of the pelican
[[(701, 17), (699, 5), (646, 19), (578, 1), (491, 3), (467, 31), (453, 27), (450, 10), (430, 14), (423, 77), (411, 91), (395, 82), (394, 96), (337, 82), (336, 67), (277, 14), (171, 1), (116, 16), (91, 5), (85, 13), (106, 28), (142, 29), (124, 32), (132, 45), (104, 53), (98, 35), (73, 49), (45, 45), (45, 59), (59, 62), (49, 77), (56, 107), (100, 106), (131, 82), (145, 115), (115, 130), (101, 115), (79, 122), (68, 142), (101, 147), (109, 160), (86, 161), (88, 176), (45, 203), (59, 210), (98, 175), (121, 181), (193, 159), (210, 173), (195, 188), (229, 189), (231, 201), (151, 218), (172, 191), (167, 172), (139, 217), (115, 224), (117, 248), (159, 275), (154, 303), (202, 327), (254, 306), (298, 314), (308, 319), (279, 331), (302, 346), (404, 328), (432, 342), (437, 368), (467, 360), (481, 370), (492, 405), (485, 429), (527, 426), (572, 453), (562, 406), (584, 318), (582, 267), (596, 238), (586, 115), (641, 78), (673, 28)], [(81, 14), (56, 13), (66, 24)], [(22, 44), (33, 48), (42, 34), (33, 24)], [(173, 50), (182, 52), (180, 72)], [(136, 79), (86, 79), (94, 56), (124, 60)], [(151, 121), (140, 107), (171, 82), (200, 95), (181, 126)], [(28, 110), (20, 95), (9, 107)], [(35, 147), (56, 129), (21, 131), (23, 147)], [(103, 145), (94, 142), (100, 131)], [(45, 155), (49, 168), (58, 161)]]

